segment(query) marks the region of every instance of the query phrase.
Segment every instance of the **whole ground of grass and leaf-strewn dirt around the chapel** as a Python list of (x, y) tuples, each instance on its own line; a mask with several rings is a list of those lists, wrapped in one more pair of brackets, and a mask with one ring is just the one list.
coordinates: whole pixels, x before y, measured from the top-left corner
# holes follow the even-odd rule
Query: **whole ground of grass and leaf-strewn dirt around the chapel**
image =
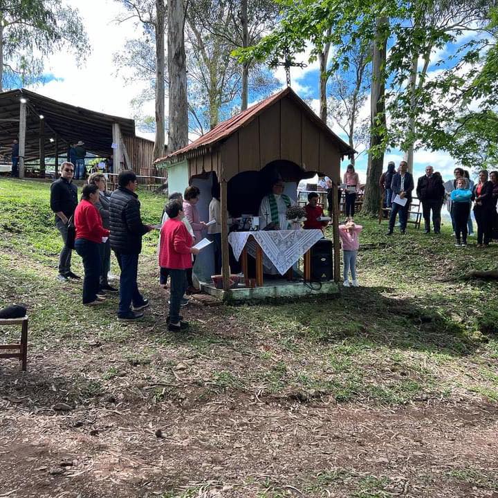
[[(157, 234), (140, 259), (151, 309), (123, 324), (116, 297), (84, 308), (81, 284), (56, 281), (48, 193), (0, 179), (0, 306), (30, 315), (28, 372), (0, 362), (0, 496), (498, 496), (498, 289), (461, 279), (497, 268), (496, 246), (359, 217), (380, 243), (360, 251), (361, 288), (191, 304), (174, 335)], [(163, 199), (140, 200), (157, 223)]]

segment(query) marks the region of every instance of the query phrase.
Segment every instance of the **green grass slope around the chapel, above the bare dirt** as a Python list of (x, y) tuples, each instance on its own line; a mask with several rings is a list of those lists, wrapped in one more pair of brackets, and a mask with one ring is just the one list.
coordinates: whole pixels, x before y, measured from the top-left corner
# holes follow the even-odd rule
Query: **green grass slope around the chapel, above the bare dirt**
[[(448, 225), (440, 237), (409, 227), (406, 237), (388, 238), (385, 222), (358, 216), (365, 227), (362, 243), (385, 244), (360, 250), (362, 288), (344, 289), (338, 299), (205, 308), (199, 320), (191, 320), (188, 334), (176, 335), (163, 323), (156, 232), (144, 238), (139, 275), (154, 313), (140, 324), (119, 322), (112, 300), (84, 308), (80, 285), (55, 282), (61, 240), (49, 192), (49, 183), (0, 179), (0, 305), (28, 304), (34, 351), (63, 343), (67, 351), (91, 358), (89, 340), (99, 341), (123, 368), (144, 378), (163, 378), (156, 367), (170, 369), (172, 358), (203, 358), (196, 382), (214, 389), (202, 396), (255, 391), (303, 403), (332, 398), (371, 406), (462, 395), (498, 401), (498, 286), (458, 278), (470, 268), (496, 267), (496, 246), (455, 248)], [(144, 221), (157, 223), (164, 196), (139, 196)], [(82, 273), (77, 256), (74, 266)], [(229, 335), (220, 335), (219, 326), (227, 322)], [(230, 353), (219, 356), (220, 348), (243, 356), (230, 361)], [(102, 385), (86, 386), (89, 393), (118, 380), (118, 362), (102, 358), (93, 376)]]

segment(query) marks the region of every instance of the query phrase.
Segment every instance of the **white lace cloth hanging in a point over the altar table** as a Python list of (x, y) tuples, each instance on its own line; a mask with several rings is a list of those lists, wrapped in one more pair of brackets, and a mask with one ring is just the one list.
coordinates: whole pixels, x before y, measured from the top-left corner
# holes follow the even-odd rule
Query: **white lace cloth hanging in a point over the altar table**
[[(248, 241), (250, 235), (254, 239)], [(228, 242), (237, 261), (246, 243), (248, 253), (256, 257), (257, 242), (263, 250), (264, 268), (271, 270), (275, 266), (280, 275), (285, 275), (287, 270), (322, 238), (322, 230), (261, 230), (232, 232), (228, 235)]]

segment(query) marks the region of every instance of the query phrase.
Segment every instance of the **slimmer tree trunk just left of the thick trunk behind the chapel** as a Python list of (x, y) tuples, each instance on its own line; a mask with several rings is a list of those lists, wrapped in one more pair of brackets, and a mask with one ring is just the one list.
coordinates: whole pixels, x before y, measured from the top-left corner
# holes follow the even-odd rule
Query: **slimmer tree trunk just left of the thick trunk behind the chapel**
[[(165, 145), (165, 16), (164, 0), (156, 0), (156, 138), (154, 159), (164, 157)], [(149, 165), (147, 165), (149, 166)]]

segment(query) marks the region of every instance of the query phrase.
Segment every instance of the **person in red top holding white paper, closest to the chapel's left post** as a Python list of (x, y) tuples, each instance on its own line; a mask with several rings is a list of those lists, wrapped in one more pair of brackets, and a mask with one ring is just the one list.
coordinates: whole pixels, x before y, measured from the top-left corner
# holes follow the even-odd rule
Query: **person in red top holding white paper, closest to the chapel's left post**
[(167, 268), (171, 279), (166, 321), (168, 330), (176, 332), (188, 326), (180, 315), (180, 303), (187, 289), (187, 270), (192, 268), (192, 255), (198, 255), (199, 249), (192, 247), (192, 235), (182, 221), (185, 216), (183, 206), (177, 201), (170, 201), (165, 211), (169, 219), (161, 228), (159, 266)]

